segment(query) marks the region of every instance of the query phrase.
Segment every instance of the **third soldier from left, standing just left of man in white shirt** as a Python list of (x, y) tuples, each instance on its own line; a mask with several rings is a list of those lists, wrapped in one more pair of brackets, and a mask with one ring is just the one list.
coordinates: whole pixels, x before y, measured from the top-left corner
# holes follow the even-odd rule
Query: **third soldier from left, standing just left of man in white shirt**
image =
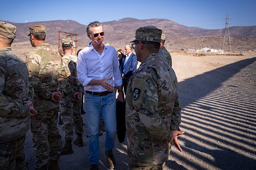
[(61, 40), (64, 56), (62, 57), (67, 70), (70, 70), (71, 75), (68, 77), (70, 86), (66, 86), (63, 91), (60, 102), (60, 113), (63, 118), (62, 130), (65, 134), (65, 146), (62, 148), (61, 155), (73, 153), (72, 140), (73, 140), (73, 123), (77, 138), (74, 144), (79, 147), (84, 146), (82, 134), (83, 120), (81, 117), (81, 103), (83, 85), (77, 79), (76, 74), (76, 54), (73, 53), (73, 40), (65, 38)]

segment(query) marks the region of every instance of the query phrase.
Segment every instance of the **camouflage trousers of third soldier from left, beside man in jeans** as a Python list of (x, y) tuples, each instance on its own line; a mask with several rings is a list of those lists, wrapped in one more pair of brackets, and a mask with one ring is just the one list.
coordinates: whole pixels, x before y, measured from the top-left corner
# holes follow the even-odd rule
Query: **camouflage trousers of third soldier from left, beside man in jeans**
[(76, 135), (82, 135), (83, 119), (81, 117), (82, 101), (71, 99), (69, 101), (61, 100), (60, 113), (63, 118), (63, 125), (61, 129), (65, 134), (65, 141), (72, 141), (74, 139), (74, 128)]

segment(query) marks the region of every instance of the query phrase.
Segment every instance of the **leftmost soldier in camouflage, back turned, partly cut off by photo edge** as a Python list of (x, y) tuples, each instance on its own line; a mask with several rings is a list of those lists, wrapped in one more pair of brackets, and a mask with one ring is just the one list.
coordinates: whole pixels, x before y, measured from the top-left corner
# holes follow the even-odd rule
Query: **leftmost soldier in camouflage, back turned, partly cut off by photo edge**
[(26, 65), (12, 52), (16, 30), (0, 21), (0, 170), (28, 170), (24, 142), (30, 128), (29, 115), (37, 113)]

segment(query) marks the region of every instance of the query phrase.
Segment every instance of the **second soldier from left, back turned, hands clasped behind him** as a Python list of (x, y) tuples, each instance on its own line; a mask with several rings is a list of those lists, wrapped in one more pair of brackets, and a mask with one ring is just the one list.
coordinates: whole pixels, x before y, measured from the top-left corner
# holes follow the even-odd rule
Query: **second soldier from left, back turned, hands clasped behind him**
[(45, 43), (45, 26), (29, 27), (29, 39), (35, 47), (26, 55), (29, 82), (35, 90), (34, 106), (38, 114), (31, 117), (31, 132), (36, 156), (35, 170), (58, 170), (61, 136), (57, 128), (61, 90), (67, 72), (61, 55)]

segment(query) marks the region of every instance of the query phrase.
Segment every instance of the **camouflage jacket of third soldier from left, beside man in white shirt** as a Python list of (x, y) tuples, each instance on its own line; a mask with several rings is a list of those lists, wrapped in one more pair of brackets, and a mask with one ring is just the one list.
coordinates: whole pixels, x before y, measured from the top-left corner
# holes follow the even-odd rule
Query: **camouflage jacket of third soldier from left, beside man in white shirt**
[(63, 97), (72, 97), (73, 92), (84, 91), (84, 86), (81, 85), (81, 83), (77, 79), (77, 73), (76, 73), (77, 57), (74, 53), (66, 53), (62, 57), (62, 60), (64, 62), (66, 70), (68, 72), (70, 71), (70, 74), (68, 74), (68, 77), (67, 77), (69, 85), (66, 86)]

